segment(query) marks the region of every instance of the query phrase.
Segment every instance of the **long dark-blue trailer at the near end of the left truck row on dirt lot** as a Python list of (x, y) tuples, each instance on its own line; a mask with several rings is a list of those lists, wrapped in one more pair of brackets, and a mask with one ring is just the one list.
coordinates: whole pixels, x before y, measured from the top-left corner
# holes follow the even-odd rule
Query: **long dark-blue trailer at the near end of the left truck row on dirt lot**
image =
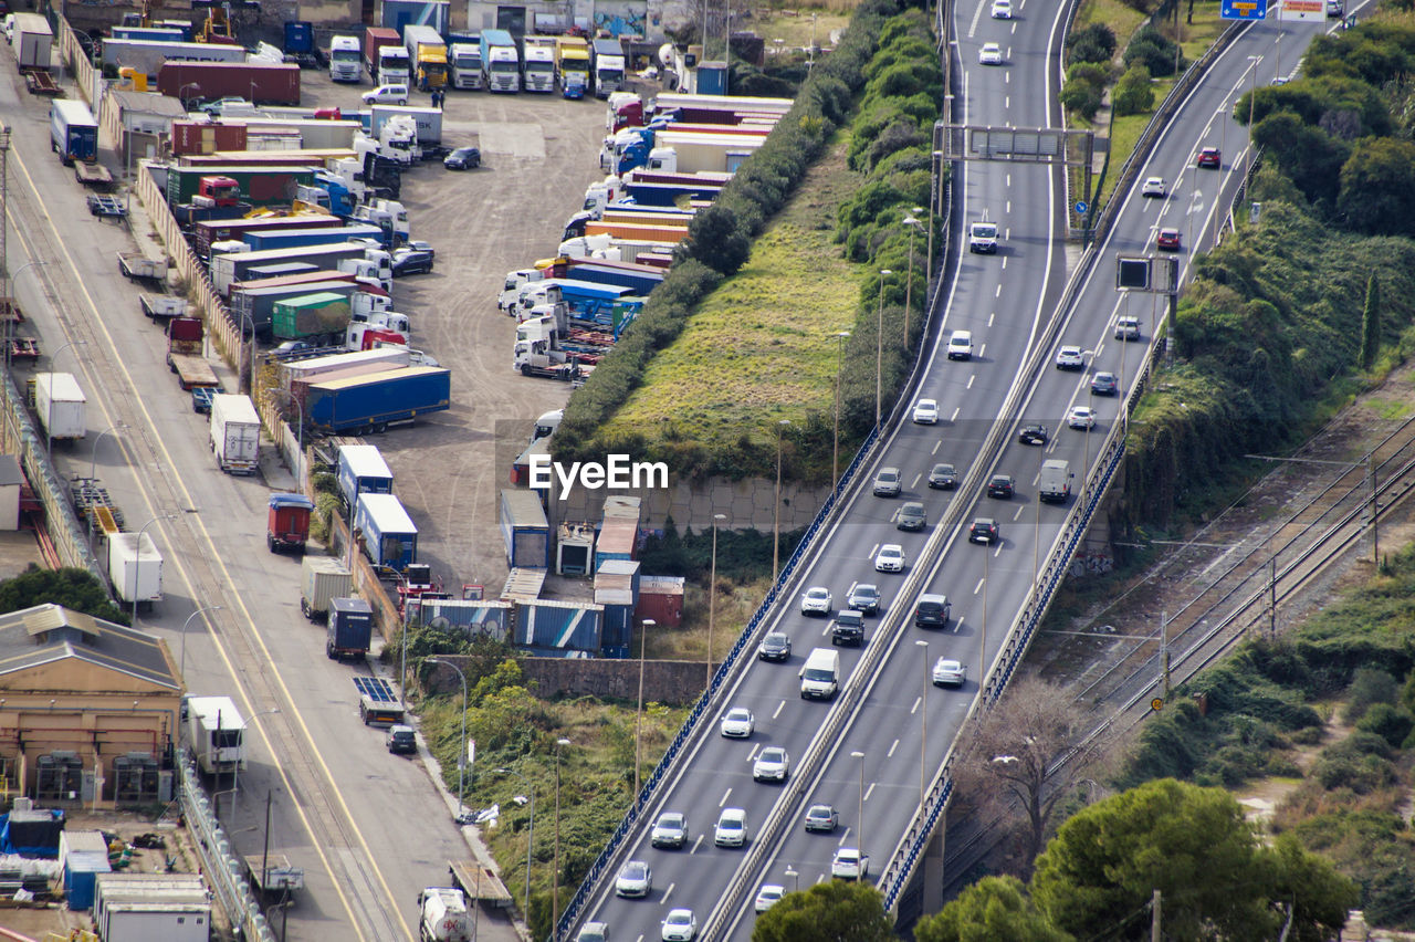
[(406, 366), (310, 383), (304, 417), (323, 434), (365, 434), (451, 407), (451, 372)]

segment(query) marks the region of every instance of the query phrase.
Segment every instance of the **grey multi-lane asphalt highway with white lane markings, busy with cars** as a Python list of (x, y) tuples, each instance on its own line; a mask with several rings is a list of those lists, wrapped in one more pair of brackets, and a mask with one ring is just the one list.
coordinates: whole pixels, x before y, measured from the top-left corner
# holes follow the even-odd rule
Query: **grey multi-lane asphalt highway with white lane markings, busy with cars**
[[(990, 21), (986, 6), (983, 1), (976, 7), (955, 7), (955, 64), (962, 66), (958, 72), (962, 100), (955, 102), (962, 112), (955, 110), (957, 120), (1019, 127), (1053, 123), (1044, 103), (1054, 92), (1056, 66), (1049, 50), (1056, 48), (1053, 40), (1060, 34), (1060, 11), (1043, 11), (1039, 0), (1030, 0), (1020, 6), (1020, 20), (1006, 23)], [(1296, 62), (1300, 50), (1324, 25), (1286, 25), (1282, 52), (1289, 64)], [(1003, 44), (1003, 66), (978, 65), (976, 50), (988, 41)], [(982, 665), (996, 658), (1003, 635), (1030, 593), (1037, 566), (1046, 562), (1063, 521), (1081, 496), (1085, 465), (1094, 464), (1101, 441), (1116, 421), (1124, 396), (1091, 396), (1090, 380), (1095, 372), (1108, 371), (1129, 390), (1148, 358), (1155, 317), (1163, 315), (1163, 303), (1153, 304), (1143, 296), (1126, 301), (1116, 291), (1115, 255), (1153, 253), (1153, 232), (1160, 226), (1179, 228), (1183, 248), (1177, 257), (1187, 279), (1190, 248), (1196, 240), (1211, 240), (1245, 168), (1247, 136), (1227, 113), (1251, 83), (1272, 78), (1265, 66), (1276, 62), (1276, 42), (1275, 24), (1261, 25), (1248, 30), (1217, 58), (1138, 175), (1139, 180), (1163, 177), (1166, 197), (1142, 198), (1138, 190), (1116, 195), (1122, 204), (1115, 225), (1097, 248), (1095, 264), (1064, 311), (1056, 311), (1064, 276), (1057, 174), (1006, 163), (961, 165), (954, 188), (958, 212), (952, 239), (965, 239), (964, 225), (983, 211), (1000, 223), (1002, 239), (998, 256), (962, 252), (947, 281), (951, 293), (941, 330), (925, 352), (928, 366), (916, 390), (916, 397), (938, 400), (942, 421), (914, 426), (907, 421), (907, 409), (903, 410), (904, 421), (890, 430), (870, 464), (862, 468), (855, 491), (828, 532), (809, 547), (790, 591), (781, 595), (763, 629), (780, 628), (791, 635), (791, 662), (753, 662), (723, 686), (703, 728), (651, 798), (641, 825), (623, 842), (607, 878), (576, 925), (603, 921), (614, 938), (654, 939), (659, 938), (658, 924), (668, 911), (685, 907), (696, 915), (705, 938), (746, 939), (757, 887), (778, 884), (790, 891), (828, 880), (831, 860), (841, 846), (865, 850), (872, 859), (872, 878), (896, 854), (925, 779), (931, 781), (938, 771), (978, 693)], [(1252, 62), (1249, 57), (1265, 59)], [(1289, 71), (1290, 65), (1282, 74)], [(1019, 88), (1030, 93), (1020, 93)], [(1036, 89), (1046, 89), (1046, 95)], [(1224, 149), (1218, 170), (1193, 165), (1203, 146)], [(1060, 330), (1039, 349), (1037, 339), (1054, 314), (1063, 317)], [(1121, 314), (1140, 320), (1139, 341), (1114, 338), (1115, 318)], [(974, 361), (949, 362), (941, 355), (938, 348), (954, 330), (972, 331), (978, 351)], [(1081, 347), (1085, 368), (1054, 369), (1060, 345)], [(1033, 351), (1041, 366), (1029, 372), (1024, 364)], [(1022, 406), (1002, 414), (1015, 383), (1023, 385)], [(1091, 431), (1064, 427), (1073, 405), (1097, 410)], [(979, 448), (995, 421), (1006, 429), (1006, 444), (999, 454), (981, 460)], [(1044, 447), (1019, 444), (1016, 431), (1023, 421), (1047, 424), (1050, 441)], [(1073, 498), (1065, 505), (1043, 506), (1036, 499), (1037, 472), (1046, 458), (1064, 458), (1075, 472)], [(927, 488), (925, 478), (935, 461), (958, 467), (959, 491)], [(880, 467), (903, 471), (900, 498), (870, 495), (870, 481)], [(1010, 501), (981, 495), (981, 485), (993, 472), (1015, 477), (1017, 494)], [(931, 526), (923, 535), (899, 533), (890, 525), (890, 515), (904, 499), (927, 506)], [(932, 526), (944, 515), (949, 515), (951, 526)], [(968, 523), (981, 516), (998, 521), (1000, 545), (966, 542)], [(903, 576), (873, 571), (870, 562), (882, 543), (904, 546), (910, 569)], [(937, 562), (916, 569), (920, 559)], [(870, 676), (855, 676), (862, 653), (841, 649), (843, 683), (857, 687), (862, 699), (845, 717), (843, 730), (824, 741), (828, 713), (842, 704), (838, 700), (836, 707), (826, 707), (801, 700), (797, 672), (811, 648), (829, 646), (828, 621), (802, 617), (798, 598), (809, 586), (826, 586), (839, 607), (848, 590), (862, 581), (880, 584), (889, 603), (866, 631), (867, 645), (883, 645), (887, 651)], [(949, 597), (954, 621), (945, 631), (913, 627), (913, 600), (923, 591)], [(940, 656), (968, 666), (962, 689), (928, 685), (927, 670)], [(749, 741), (717, 735), (717, 717), (733, 706), (756, 714), (757, 728)], [(792, 775), (811, 752), (821, 752), (824, 762), (818, 774), (792, 778), (785, 786), (756, 784), (750, 762), (766, 745), (788, 750), (795, 764)], [(838, 810), (841, 827), (835, 835), (808, 835), (801, 826), (805, 808), (818, 802)], [(749, 870), (741, 850), (713, 846), (713, 823), (723, 808), (744, 809), (753, 829), (775, 818), (787, 822), (760, 866)], [(691, 840), (685, 850), (648, 846), (647, 829), (662, 810), (688, 815)], [(654, 870), (654, 890), (647, 900), (613, 897), (614, 871), (630, 859), (644, 860)], [(733, 895), (734, 885), (746, 887), (746, 894)]]

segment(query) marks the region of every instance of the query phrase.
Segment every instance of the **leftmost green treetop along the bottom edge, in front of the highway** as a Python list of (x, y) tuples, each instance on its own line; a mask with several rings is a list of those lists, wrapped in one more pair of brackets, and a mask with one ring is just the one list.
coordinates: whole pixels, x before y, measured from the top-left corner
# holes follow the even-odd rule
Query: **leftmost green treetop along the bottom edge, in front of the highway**
[(788, 892), (760, 917), (751, 942), (890, 942), (884, 897), (867, 883), (832, 880)]

